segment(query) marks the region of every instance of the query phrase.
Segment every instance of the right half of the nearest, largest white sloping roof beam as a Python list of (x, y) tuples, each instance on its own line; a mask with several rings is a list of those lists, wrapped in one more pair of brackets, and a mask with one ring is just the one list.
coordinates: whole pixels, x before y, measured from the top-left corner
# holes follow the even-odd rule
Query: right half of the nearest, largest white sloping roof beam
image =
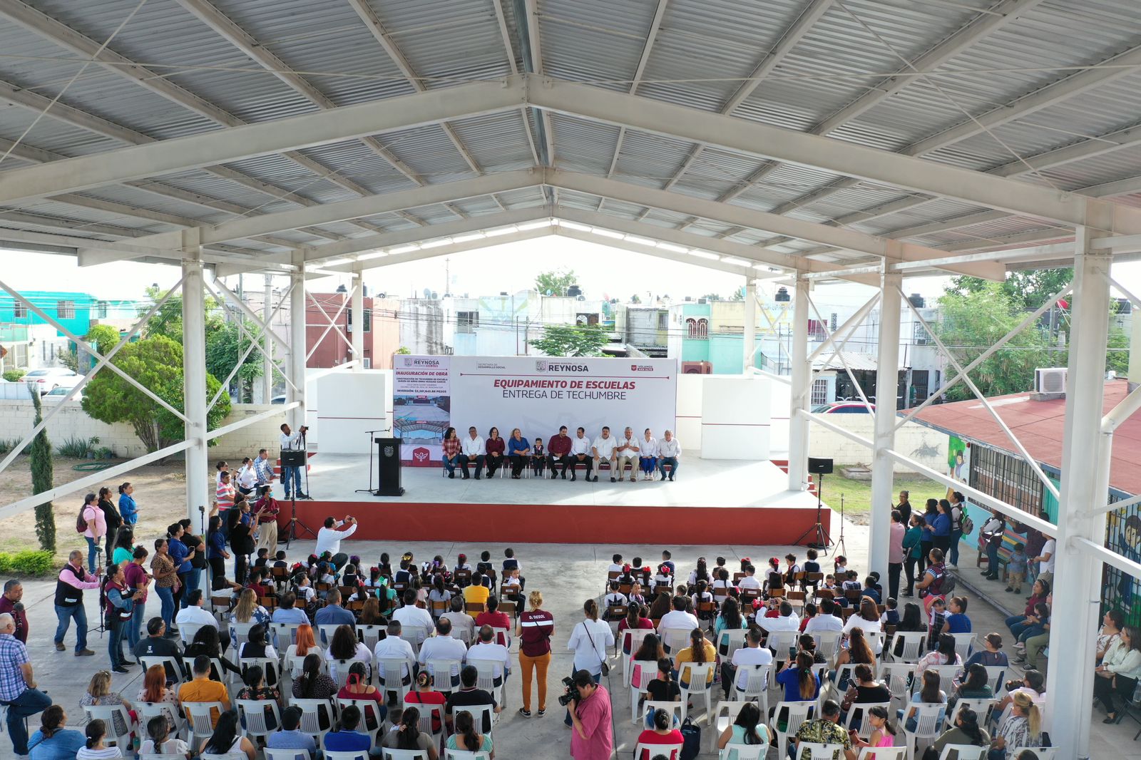
[[(1087, 203), (1097, 203), (1074, 193), (583, 84), (544, 80), (528, 90), (528, 102), (558, 113), (1074, 226), (1085, 223)], [(1141, 210), (1114, 207), (1107, 212), (1114, 232), (1141, 233)]]

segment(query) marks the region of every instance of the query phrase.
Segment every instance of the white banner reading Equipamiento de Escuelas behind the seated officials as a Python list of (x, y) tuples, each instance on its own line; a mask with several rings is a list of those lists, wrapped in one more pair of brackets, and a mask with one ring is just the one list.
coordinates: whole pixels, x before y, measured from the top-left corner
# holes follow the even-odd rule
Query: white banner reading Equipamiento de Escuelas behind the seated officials
[[(403, 358), (403, 357), (397, 357)], [(614, 435), (631, 427), (661, 438), (675, 426), (678, 363), (650, 358), (536, 358), (452, 356), (452, 425), (460, 437), (476, 426), (495, 426), (507, 438), (512, 428), (534, 442), (550, 439), (567, 426), (594, 438), (604, 425)]]

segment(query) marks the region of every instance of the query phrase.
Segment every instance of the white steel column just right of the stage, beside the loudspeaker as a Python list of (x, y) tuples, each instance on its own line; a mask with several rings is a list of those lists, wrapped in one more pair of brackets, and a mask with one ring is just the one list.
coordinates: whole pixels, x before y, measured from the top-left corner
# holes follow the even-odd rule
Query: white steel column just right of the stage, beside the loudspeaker
[(888, 577), (888, 536), (895, 495), (896, 391), (899, 387), (899, 286), (903, 275), (883, 274), (880, 288), (880, 334), (875, 372), (875, 435), (872, 450), (872, 529), (868, 569)]

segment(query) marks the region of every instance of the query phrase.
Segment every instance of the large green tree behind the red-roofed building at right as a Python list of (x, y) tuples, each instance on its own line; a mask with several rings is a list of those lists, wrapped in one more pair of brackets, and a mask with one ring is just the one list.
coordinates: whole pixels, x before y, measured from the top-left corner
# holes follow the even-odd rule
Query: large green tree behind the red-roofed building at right
[[(1002, 283), (986, 282), (977, 290), (948, 293), (939, 299), (939, 321), (932, 325), (947, 350), (964, 366), (1018, 326), (1025, 312)], [(1047, 364), (1046, 340), (1035, 325), (1014, 335), (971, 372), (984, 396), (1029, 390), (1034, 370)], [(1065, 358), (1063, 358), (1065, 362)], [(948, 373), (953, 370), (948, 366)], [(947, 393), (948, 401), (972, 398), (962, 381)]]

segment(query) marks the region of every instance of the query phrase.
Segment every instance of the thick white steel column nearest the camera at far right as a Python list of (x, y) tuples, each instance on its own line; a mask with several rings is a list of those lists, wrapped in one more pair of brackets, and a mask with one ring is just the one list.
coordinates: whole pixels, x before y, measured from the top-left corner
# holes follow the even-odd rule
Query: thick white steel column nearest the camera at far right
[[(1075, 240), (1054, 611), (1050, 616), (1050, 650), (1065, 652), (1066, 656), (1051, 657), (1046, 676), (1047, 682), (1055, 685), (1046, 690), (1050, 738), (1062, 758), (1090, 757), (1101, 560), (1075, 547), (1073, 540), (1086, 539), (1099, 547), (1106, 540), (1104, 512), (1083, 515), (1090, 504), (1104, 503), (1109, 488), (1110, 436), (1101, 430), (1101, 417), (1111, 257), (1090, 246), (1091, 240), (1103, 234), (1078, 227)], [(1062, 684), (1066, 686), (1058, 686)]]

